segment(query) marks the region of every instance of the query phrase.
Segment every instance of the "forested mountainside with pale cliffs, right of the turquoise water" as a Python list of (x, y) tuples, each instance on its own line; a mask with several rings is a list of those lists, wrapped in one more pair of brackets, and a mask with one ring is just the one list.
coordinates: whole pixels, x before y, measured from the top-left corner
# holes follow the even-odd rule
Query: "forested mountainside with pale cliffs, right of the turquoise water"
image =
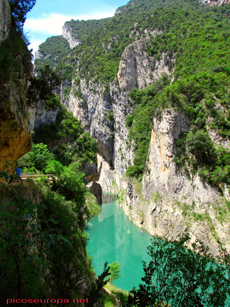
[(52, 37), (35, 68), (64, 77), (60, 101), (97, 140), (102, 188), (154, 235), (229, 247), (227, 2), (131, 0), (66, 21), (63, 37), (70, 54), (51, 57)]

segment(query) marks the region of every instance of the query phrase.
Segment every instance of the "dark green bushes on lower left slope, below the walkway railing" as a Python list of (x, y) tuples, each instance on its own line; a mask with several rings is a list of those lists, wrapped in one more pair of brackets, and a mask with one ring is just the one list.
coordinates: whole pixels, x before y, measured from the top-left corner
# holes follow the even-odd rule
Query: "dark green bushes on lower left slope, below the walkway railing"
[[(89, 270), (83, 218), (87, 192), (82, 174), (74, 165), (65, 168), (57, 178), (56, 191), (52, 191), (53, 186), (50, 189), (47, 186), (37, 204), (26, 199), (28, 195), (38, 198), (41, 192), (33, 181), (12, 187), (7, 171), (1, 174), (7, 182), (0, 186), (3, 302), (10, 297), (71, 301), (78, 296), (85, 280), (89, 287), (85, 296), (92, 298), (91, 306), (101, 297), (108, 269), (96, 281)], [(71, 186), (67, 184), (69, 180)]]

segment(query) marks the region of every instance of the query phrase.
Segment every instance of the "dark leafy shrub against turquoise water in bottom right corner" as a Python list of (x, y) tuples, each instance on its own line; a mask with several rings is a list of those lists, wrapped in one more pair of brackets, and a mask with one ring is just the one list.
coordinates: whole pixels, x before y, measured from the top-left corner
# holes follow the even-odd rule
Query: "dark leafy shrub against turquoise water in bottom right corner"
[[(124, 307), (224, 307), (229, 305), (230, 257), (222, 250), (218, 262), (198, 242), (194, 251), (180, 242), (153, 238), (148, 247), (151, 260), (143, 261), (145, 276), (139, 289), (130, 291)], [(202, 254), (202, 256), (201, 256)]]

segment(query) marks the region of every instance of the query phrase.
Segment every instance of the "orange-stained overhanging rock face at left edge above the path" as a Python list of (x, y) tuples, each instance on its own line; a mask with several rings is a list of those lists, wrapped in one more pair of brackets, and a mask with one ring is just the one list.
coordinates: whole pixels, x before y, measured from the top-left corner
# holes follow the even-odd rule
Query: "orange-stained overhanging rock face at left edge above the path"
[(26, 105), (27, 78), (17, 79), (0, 86), (0, 170), (6, 161), (14, 172), (17, 159), (32, 146), (29, 117)]

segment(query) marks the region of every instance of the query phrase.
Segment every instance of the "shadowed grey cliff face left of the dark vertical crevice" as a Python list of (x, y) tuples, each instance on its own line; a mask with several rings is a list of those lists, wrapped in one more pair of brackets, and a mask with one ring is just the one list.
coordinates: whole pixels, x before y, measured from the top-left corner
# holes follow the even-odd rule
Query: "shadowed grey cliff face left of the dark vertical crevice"
[(63, 103), (97, 140), (99, 154), (113, 168), (114, 128), (112, 117), (108, 117), (109, 114), (112, 116), (111, 97), (105, 92), (103, 85), (91, 82), (86, 84), (85, 80), (81, 80), (80, 89), (84, 98), (78, 97), (73, 82), (70, 96)]

